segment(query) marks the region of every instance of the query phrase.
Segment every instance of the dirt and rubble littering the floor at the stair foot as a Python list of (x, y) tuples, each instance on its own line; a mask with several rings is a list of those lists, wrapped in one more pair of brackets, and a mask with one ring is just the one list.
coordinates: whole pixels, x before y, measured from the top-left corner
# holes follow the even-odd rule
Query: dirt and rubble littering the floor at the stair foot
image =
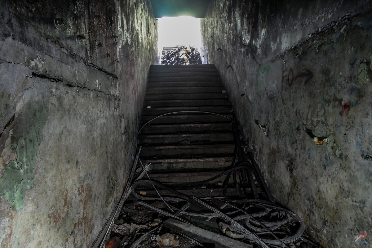
[[(143, 204), (147, 204), (144, 206)], [(185, 207), (186, 206), (186, 207)], [(256, 207), (242, 207), (241, 210), (237, 210), (232, 206), (227, 204), (216, 204), (218, 209), (223, 209), (224, 212), (230, 213), (231, 216), (239, 216), (241, 211), (249, 210), (250, 213), (258, 215), (257, 213), (267, 212), (267, 209), (260, 208), (259, 204)], [(243, 205), (242, 205), (243, 206)], [(151, 209), (153, 208), (153, 209)], [(106, 248), (196, 248), (196, 247), (220, 247), (208, 242), (206, 240), (194, 239), (194, 237), (188, 237), (182, 235), (174, 230), (168, 229), (163, 226), (163, 222), (170, 219), (168, 213), (173, 212), (174, 216), (180, 216), (185, 222), (190, 223), (193, 226), (198, 226), (204, 230), (208, 230), (219, 235), (224, 236), (226, 239), (234, 239), (234, 241), (243, 242), (245, 247), (260, 247), (257, 243), (251, 242), (249, 239), (245, 238), (239, 232), (236, 232), (229, 222), (221, 217), (211, 217), (208, 215), (213, 215), (208, 213), (203, 207), (195, 206), (185, 203), (172, 204), (170, 206), (172, 211), (169, 210), (167, 203), (161, 201), (149, 201), (148, 203), (143, 203), (141, 201), (129, 200), (124, 204), (119, 217), (115, 220), (112, 228), (111, 238)], [(183, 211), (180, 211), (180, 209)], [(163, 212), (162, 212), (163, 211)], [(207, 217), (206, 217), (207, 216)], [(283, 212), (278, 210), (269, 210), (265, 214), (265, 219), (261, 219), (263, 223), (264, 220), (271, 223), (286, 223), (286, 226), (281, 226), (274, 233), (278, 236), (284, 229), (296, 229), (298, 228), (298, 223), (295, 223), (292, 217), (288, 214), (283, 214)], [(239, 217), (235, 217), (239, 219)], [(243, 222), (241, 222), (243, 223)], [(253, 223), (253, 222), (252, 222)], [(252, 226), (251, 226), (252, 228)], [(272, 228), (275, 229), (275, 228)], [(207, 234), (208, 235), (208, 234)], [(283, 239), (285, 235), (279, 236)], [(261, 234), (260, 238), (267, 238)], [(270, 244), (270, 248), (288, 247), (288, 248), (318, 248), (319, 245), (315, 244), (308, 238), (306, 234), (302, 234), (301, 238), (297, 238), (294, 242), (287, 242), (284, 244)]]

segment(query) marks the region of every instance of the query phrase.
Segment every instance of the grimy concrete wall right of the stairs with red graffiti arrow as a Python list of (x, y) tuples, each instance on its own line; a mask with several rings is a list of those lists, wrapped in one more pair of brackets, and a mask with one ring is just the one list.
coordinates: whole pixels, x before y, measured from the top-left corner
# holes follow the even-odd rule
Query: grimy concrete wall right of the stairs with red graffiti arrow
[(269, 188), (324, 247), (372, 230), (371, 4), (215, 0), (201, 21)]

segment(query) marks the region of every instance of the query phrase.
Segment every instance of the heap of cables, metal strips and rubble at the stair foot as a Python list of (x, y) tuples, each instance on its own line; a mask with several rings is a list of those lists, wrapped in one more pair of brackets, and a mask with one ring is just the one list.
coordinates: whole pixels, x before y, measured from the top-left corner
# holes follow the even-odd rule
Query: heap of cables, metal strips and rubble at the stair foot
[[(132, 172), (137, 178), (127, 187), (124, 206), (112, 226), (112, 238), (121, 240), (121, 248), (150, 247), (262, 247), (315, 248), (304, 234), (302, 220), (292, 211), (280, 206), (262, 179), (253, 155), (245, 157), (241, 148), (238, 127), (232, 127), (237, 137), (234, 162), (219, 175), (200, 182), (157, 182), (151, 180), (138, 155), (142, 170), (135, 164)], [(140, 147), (139, 152), (142, 147)], [(146, 179), (142, 179), (144, 175)], [(230, 179), (235, 194), (221, 196), (183, 194), (177, 188), (193, 185), (203, 188), (217, 178), (227, 189)], [(217, 186), (217, 183), (215, 184)], [(213, 190), (213, 188), (211, 189)], [(248, 192), (250, 191), (250, 192)]]

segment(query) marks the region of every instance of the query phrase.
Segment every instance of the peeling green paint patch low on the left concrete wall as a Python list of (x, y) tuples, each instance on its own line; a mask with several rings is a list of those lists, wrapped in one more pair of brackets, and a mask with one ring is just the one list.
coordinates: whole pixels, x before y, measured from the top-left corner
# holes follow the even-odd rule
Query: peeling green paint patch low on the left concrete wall
[(17, 118), (10, 136), (12, 149), (17, 152), (17, 161), (4, 166), (4, 175), (0, 178), (0, 194), (9, 202), (9, 208), (23, 208), (23, 198), (33, 187), (36, 154), (42, 137), (48, 108), (42, 102), (29, 102)]

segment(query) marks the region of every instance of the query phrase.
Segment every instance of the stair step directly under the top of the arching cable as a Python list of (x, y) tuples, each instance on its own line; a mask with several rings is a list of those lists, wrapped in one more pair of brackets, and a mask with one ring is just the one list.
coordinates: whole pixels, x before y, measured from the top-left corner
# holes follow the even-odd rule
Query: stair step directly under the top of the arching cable
[[(232, 118), (232, 113), (224, 113), (226, 117)], [(153, 115), (142, 115), (142, 124), (153, 119)], [(169, 114), (158, 117), (151, 121), (151, 124), (186, 124), (186, 123), (215, 123), (215, 122), (229, 122), (230, 120), (220, 115), (214, 114)]]

